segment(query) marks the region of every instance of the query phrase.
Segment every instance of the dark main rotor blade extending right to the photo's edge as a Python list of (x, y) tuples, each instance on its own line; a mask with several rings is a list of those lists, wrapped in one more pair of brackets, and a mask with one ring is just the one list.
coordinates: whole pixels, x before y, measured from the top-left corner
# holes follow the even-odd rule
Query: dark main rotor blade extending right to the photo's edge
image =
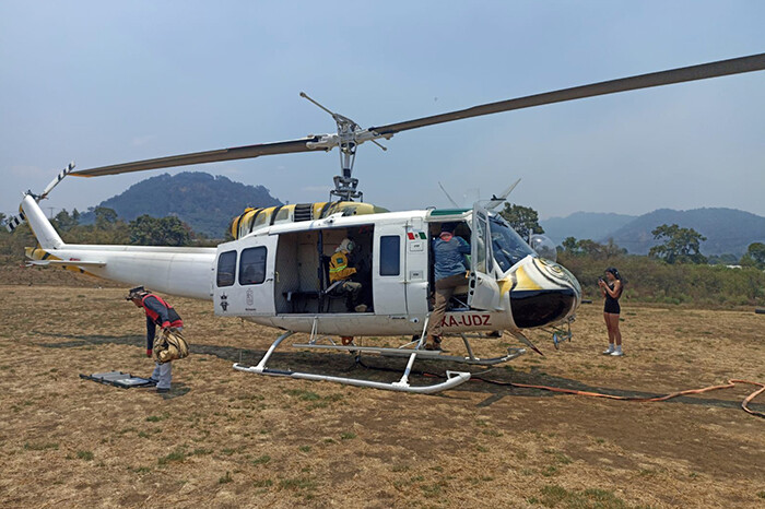
[(720, 60), (717, 62), (702, 63), (669, 71), (651, 72), (620, 80), (603, 81), (590, 85), (575, 86), (555, 92), (529, 95), (515, 99), (501, 100), (473, 106), (472, 108), (460, 109), (448, 114), (423, 117), (404, 122), (389, 123), (387, 126), (374, 127), (368, 130), (379, 135), (395, 134), (397, 132), (416, 129), (435, 123), (450, 122), (463, 118), (480, 117), (482, 115), (498, 114), (513, 109), (531, 108), (552, 103), (563, 103), (565, 100), (581, 99), (597, 95), (615, 94), (638, 88), (649, 88), (651, 86), (671, 85), (685, 81), (706, 80), (708, 78), (739, 74), (742, 72), (762, 71), (765, 69), (765, 54), (752, 55), (749, 57)]

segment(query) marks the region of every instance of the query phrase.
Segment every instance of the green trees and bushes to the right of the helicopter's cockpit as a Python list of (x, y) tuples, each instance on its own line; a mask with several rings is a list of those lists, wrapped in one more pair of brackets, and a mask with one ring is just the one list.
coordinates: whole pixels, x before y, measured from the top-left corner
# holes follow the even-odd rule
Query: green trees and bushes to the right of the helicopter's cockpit
[[(502, 215), (528, 239), (531, 232), (544, 233), (537, 211), (505, 204)], [(765, 245), (753, 242), (741, 257), (705, 257), (705, 237), (676, 224), (657, 226), (651, 234), (660, 244), (648, 256), (629, 254), (613, 239), (567, 237), (557, 246), (558, 262), (581, 284), (586, 298), (600, 299), (598, 277), (608, 267), (617, 267), (627, 279), (625, 300), (660, 304), (693, 304), (713, 307), (765, 305)], [(726, 265), (741, 265), (728, 269)]]

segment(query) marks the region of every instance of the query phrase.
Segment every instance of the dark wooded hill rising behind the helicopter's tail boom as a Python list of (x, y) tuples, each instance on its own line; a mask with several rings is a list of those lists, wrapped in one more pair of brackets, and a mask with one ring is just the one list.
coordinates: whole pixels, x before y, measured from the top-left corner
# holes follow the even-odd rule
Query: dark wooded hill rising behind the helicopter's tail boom
[[(262, 186), (234, 182), (223, 176), (201, 171), (163, 174), (131, 186), (127, 191), (98, 204), (114, 209), (125, 221), (139, 215), (175, 215), (195, 232), (223, 238), (231, 221), (246, 206), (281, 205)], [(83, 214), (83, 223), (93, 222), (93, 213)]]

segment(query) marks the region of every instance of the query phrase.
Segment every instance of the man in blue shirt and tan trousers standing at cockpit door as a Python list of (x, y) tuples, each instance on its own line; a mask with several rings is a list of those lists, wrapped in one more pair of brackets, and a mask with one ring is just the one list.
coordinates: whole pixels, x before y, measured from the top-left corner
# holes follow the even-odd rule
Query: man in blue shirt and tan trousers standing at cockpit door
[(456, 227), (455, 223), (444, 223), (440, 235), (433, 240), (436, 303), (427, 323), (425, 350), (440, 350), (442, 321), (446, 306), (455, 288), (468, 284), (464, 254), (470, 254), (470, 245), (462, 237), (455, 236)]

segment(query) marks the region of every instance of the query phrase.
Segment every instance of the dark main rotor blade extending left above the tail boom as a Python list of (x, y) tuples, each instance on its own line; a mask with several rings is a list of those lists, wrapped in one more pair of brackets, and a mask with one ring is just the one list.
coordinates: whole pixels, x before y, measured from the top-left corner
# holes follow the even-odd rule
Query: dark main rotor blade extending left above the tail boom
[(170, 155), (155, 159), (136, 161), (133, 163), (101, 166), (98, 168), (81, 169), (69, 175), (74, 177), (101, 177), (102, 175), (117, 175), (129, 171), (142, 171), (144, 169), (169, 168), (190, 164), (215, 163), (219, 161), (244, 159), (259, 157), (261, 155), (290, 154), (293, 152), (311, 152), (325, 149), (309, 149), (308, 143), (316, 143), (319, 137), (302, 138), (299, 140), (280, 141), (274, 143), (261, 143), (259, 145), (234, 146), (208, 152), (195, 152), (192, 154)]

